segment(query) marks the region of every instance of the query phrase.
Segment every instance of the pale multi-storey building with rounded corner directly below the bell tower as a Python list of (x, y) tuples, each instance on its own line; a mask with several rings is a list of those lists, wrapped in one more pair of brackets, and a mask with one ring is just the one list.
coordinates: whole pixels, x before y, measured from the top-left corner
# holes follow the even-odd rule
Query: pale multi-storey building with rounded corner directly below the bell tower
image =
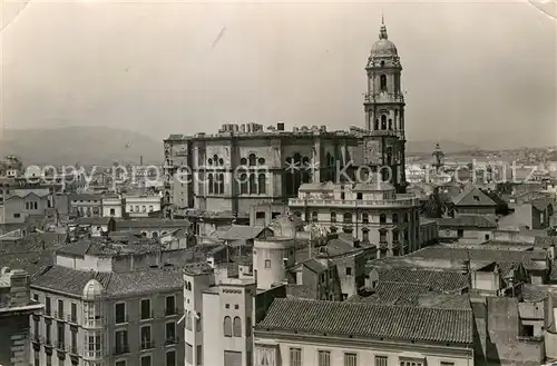
[(336, 233), (378, 246), (381, 257), (419, 249), (420, 202), (387, 182), (306, 184), (289, 200), (291, 212)]

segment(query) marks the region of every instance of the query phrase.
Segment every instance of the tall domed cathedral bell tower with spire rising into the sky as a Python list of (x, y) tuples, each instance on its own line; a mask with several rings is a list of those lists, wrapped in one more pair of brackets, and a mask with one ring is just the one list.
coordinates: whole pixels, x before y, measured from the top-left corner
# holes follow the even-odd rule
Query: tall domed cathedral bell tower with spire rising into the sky
[(383, 179), (389, 179), (397, 191), (404, 192), (404, 97), (400, 88), (402, 66), (397, 47), (388, 38), (383, 19), (379, 40), (371, 48), (365, 71), (368, 92), (363, 106), (369, 130), (369, 136), (364, 138), (368, 164), (383, 168)]

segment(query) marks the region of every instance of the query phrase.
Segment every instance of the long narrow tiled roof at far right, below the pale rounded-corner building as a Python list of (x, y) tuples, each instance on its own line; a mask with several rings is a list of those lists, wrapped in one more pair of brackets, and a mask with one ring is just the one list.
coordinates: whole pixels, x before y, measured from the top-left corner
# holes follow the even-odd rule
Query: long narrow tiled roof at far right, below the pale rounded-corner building
[(547, 254), (545, 251), (518, 251), (518, 250), (497, 250), (497, 249), (460, 249), (442, 246), (427, 247), (408, 255), (414, 258), (431, 259), (457, 259), (457, 260), (492, 260), (522, 264), (527, 270), (546, 269), (545, 261)]

